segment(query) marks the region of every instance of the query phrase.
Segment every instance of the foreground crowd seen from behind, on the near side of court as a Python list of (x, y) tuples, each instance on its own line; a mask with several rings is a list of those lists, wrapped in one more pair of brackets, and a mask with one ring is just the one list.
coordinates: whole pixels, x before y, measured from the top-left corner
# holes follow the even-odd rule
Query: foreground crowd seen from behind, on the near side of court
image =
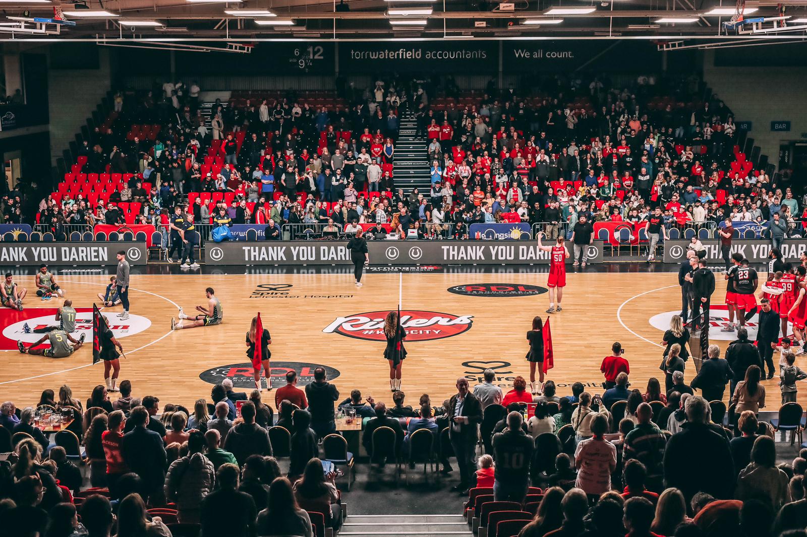
[[(321, 514), (338, 530), (337, 478), (344, 474), (333, 463), (345, 460), (320, 458), (320, 442), (345, 413), (364, 422), (370, 464), (414, 462), (411, 439), (429, 431), (442, 473), (454, 472), (456, 458), (452, 490), (461, 495), (491, 487), (496, 502), (524, 504), (530, 487), (540, 488), (535, 518), (521, 537), (807, 535), (807, 449), (777, 464), (774, 429), (759, 417), (765, 405), (759, 365), (740, 356), (742, 341), (733, 345), (728, 361), (716, 345), (709, 348), (709, 362), (725, 362), (722, 388), (701, 378), (715, 377), (704, 365), (691, 385), (676, 370), (668, 389), (655, 378), (644, 392), (630, 389), (627, 360), (614, 352), (603, 372), (616, 376), (601, 394), (575, 383), (561, 397), (546, 381), (534, 395), (522, 377), (504, 393), (488, 369), (473, 389), (458, 379), (456, 393), (439, 407), (425, 393), (418, 406), (408, 406), (402, 391), (389, 407), (356, 389), (341, 400), (324, 368), (303, 388), (287, 373), (274, 408), (261, 391), (237, 392), (230, 380), (213, 386), (193, 410), (137, 397), (130, 381), (121, 382), (115, 401), (95, 387), (86, 405), (63, 385), (58, 397), (45, 390), (36, 406), (19, 413), (13, 402), (0, 406), (0, 441), (13, 443), (0, 462), (0, 522), (12, 537), (165, 537), (175, 524), (199, 525), (205, 537), (311, 537), (312, 514)], [(669, 350), (677, 357), (676, 347)], [(784, 354), (783, 367), (792, 367), (792, 352)], [(729, 364), (744, 375), (731, 373)], [(730, 382), (736, 419), (726, 423), (713, 414), (715, 403), (725, 414), (721, 398), (710, 402), (694, 390), (714, 395)], [(32, 425), (45, 409), (77, 418), (67, 431), (83, 443), (85, 461), (69, 452), (75, 446), (52, 443)], [(289, 431), (286, 440), (274, 439), (274, 425)], [(376, 452), (380, 428), (395, 439)], [(289, 443), (275, 445), (290, 456), (287, 472), (273, 456), (278, 441)], [(87, 479), (79, 464), (88, 467)]]

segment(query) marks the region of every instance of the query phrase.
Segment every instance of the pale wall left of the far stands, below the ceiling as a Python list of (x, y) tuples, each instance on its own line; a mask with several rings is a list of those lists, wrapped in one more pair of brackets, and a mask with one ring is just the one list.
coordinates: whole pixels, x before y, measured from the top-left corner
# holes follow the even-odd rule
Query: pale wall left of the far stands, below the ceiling
[(110, 51), (99, 48), (98, 69), (48, 69), (52, 164), (111, 88)]

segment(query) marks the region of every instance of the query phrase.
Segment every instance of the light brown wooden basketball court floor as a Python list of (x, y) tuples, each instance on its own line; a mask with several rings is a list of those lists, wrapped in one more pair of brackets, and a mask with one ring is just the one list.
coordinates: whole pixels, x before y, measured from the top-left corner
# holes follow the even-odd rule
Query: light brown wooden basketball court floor
[[(715, 303), (722, 302), (725, 290), (717, 276)], [(408, 357), (403, 364), (407, 403), (416, 406), (420, 394), (429, 393), (433, 404), (439, 406), (454, 393), (458, 377), (474, 379), (471, 385), (475, 385), (486, 367), (495, 369), (497, 382), (505, 392), (512, 387), (512, 377), (527, 377), (525, 332), (536, 314), (546, 319), (548, 295), (466, 296), (448, 289), (491, 283), (546, 287), (546, 277), (546, 273), (403, 274), (403, 310), (414, 312), (416, 325), (410, 327)], [(34, 287), (32, 277), (17, 277), (17, 281), (28, 289)], [(103, 383), (102, 365), (91, 364), (89, 309), (98, 302), (95, 295), (103, 292), (108, 276), (63, 276), (60, 281), (66, 297), (79, 308), (78, 326), (88, 331), (88, 344), (60, 360), (20, 354), (15, 350), (15, 339), (32, 341), (31, 337), (37, 337), (23, 335), (23, 322), (47, 324), (61, 300), (41, 302), (29, 296), (22, 313), (2, 309), (2, 401), (27, 406), (38, 401), (43, 389), (57, 391), (62, 384), (68, 384), (84, 402), (94, 385)], [(582, 381), (594, 393), (601, 393), (600, 362), (614, 341), (625, 348), (633, 387), (644, 391), (649, 377), (663, 383), (659, 343), (669, 316), (680, 310), (676, 284), (675, 273), (570, 271), (563, 311), (549, 315), (555, 367), (548, 378), (558, 385), (558, 392), (571, 393), (571, 384)], [(213, 287), (220, 298), (224, 323), (169, 331), (170, 318), (177, 314), (178, 306), (191, 313), (194, 306), (205, 303), (207, 286)], [(398, 273), (366, 275), (361, 288), (353, 285), (351, 274), (134, 275), (129, 295), (132, 318), (128, 323), (115, 321), (120, 306), (108, 308), (105, 313), (127, 354), (121, 360), (120, 379), (132, 381), (135, 397), (152, 394), (163, 403), (192, 407), (197, 398), (209, 399), (211, 383), (224, 377), (231, 377), (241, 389), (249, 389), (252, 384), (246, 365), (245, 332), (260, 311), (272, 335), (276, 388), (284, 384), (288, 368), (297, 369), (305, 379), (321, 364), (329, 368), (343, 397), (358, 388), (363, 396), (391, 404), (387, 362), (382, 356), (384, 343), (367, 338), (382, 338), (373, 319), (395, 309)], [(360, 315), (368, 313), (364, 318)], [(713, 319), (721, 314), (725, 312), (713, 311)], [(714, 339), (718, 331), (719, 319), (711, 331), (712, 342), (725, 349), (730, 335)], [(429, 339), (433, 337), (438, 339)], [(807, 368), (807, 360), (801, 356), (797, 364)], [(695, 375), (691, 361), (687, 367), (685, 378), (690, 381)], [(779, 406), (777, 382), (778, 378), (766, 381), (768, 410)], [(798, 398), (802, 404), (807, 399), (805, 394), (807, 389), (801, 389)], [(116, 397), (111, 394), (111, 398)], [(274, 406), (274, 395), (269, 402)]]

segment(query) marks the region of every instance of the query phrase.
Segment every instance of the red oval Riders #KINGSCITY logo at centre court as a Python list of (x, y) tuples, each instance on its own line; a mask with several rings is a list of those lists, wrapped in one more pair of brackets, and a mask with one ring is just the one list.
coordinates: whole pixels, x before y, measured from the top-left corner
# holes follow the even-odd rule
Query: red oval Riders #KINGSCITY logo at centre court
[[(337, 317), (322, 331), (326, 334), (341, 334), (356, 339), (387, 341), (384, 336), (384, 318), (389, 312), (390, 310), (370, 311)], [(458, 317), (437, 311), (401, 310), (401, 326), (406, 331), (406, 341), (409, 342), (449, 338), (470, 330), (473, 323), (473, 315)]]

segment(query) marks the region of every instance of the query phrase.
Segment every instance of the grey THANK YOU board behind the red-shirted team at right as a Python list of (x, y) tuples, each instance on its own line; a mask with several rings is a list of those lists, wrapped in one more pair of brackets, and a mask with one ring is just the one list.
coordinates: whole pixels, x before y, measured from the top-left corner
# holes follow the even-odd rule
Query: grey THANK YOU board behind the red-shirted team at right
[[(710, 264), (725, 264), (719, 240), (706, 239), (700, 242), (706, 247), (707, 262)], [(688, 240), (664, 241), (664, 262), (680, 263), (686, 259), (688, 245)], [(768, 254), (771, 252), (771, 248), (773, 248), (771, 241), (765, 239), (734, 239), (731, 241), (731, 253), (739, 252), (751, 263), (767, 263), (770, 261)], [(784, 239), (781, 251), (785, 261), (798, 263), (799, 256), (807, 252), (807, 239)]]

